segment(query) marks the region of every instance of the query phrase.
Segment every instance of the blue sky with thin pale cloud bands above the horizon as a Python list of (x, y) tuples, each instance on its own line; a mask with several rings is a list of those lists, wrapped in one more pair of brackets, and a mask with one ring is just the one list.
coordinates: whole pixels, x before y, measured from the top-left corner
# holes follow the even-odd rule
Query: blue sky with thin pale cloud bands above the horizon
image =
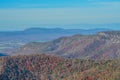
[(30, 27), (120, 29), (120, 0), (0, 0), (0, 31)]

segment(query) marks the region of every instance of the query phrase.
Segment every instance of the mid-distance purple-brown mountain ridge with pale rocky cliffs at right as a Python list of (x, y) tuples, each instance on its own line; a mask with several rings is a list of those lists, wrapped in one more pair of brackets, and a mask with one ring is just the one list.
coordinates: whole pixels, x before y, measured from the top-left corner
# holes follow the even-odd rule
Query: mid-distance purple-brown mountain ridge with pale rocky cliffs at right
[(93, 35), (61, 37), (49, 42), (33, 42), (21, 47), (18, 54), (53, 54), (67, 58), (120, 58), (120, 31), (105, 31)]

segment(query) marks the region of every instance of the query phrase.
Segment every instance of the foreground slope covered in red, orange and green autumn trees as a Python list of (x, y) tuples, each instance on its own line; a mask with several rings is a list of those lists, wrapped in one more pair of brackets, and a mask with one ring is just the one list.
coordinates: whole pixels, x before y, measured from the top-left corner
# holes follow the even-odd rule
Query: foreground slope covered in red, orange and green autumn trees
[(120, 61), (65, 59), (43, 54), (2, 57), (0, 80), (120, 80)]

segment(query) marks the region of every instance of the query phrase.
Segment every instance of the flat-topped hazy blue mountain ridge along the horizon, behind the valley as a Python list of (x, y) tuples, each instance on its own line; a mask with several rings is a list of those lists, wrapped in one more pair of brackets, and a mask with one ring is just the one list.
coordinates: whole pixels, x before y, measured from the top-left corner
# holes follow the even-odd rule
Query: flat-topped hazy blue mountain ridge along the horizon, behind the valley
[(109, 29), (61, 29), (61, 28), (30, 28), (24, 31), (6, 31), (0, 32), (0, 42), (33, 42), (50, 41), (62, 36), (71, 36), (74, 34), (95, 34)]

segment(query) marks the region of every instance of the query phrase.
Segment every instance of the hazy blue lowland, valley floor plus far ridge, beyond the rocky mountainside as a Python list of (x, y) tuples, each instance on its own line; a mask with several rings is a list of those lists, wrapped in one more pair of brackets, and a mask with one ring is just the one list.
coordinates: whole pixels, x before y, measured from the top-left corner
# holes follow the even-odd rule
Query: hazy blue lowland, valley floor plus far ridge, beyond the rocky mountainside
[(63, 36), (75, 34), (96, 34), (110, 29), (62, 29), (62, 28), (29, 28), (23, 31), (1, 31), (0, 52), (8, 53), (30, 42), (46, 42)]

